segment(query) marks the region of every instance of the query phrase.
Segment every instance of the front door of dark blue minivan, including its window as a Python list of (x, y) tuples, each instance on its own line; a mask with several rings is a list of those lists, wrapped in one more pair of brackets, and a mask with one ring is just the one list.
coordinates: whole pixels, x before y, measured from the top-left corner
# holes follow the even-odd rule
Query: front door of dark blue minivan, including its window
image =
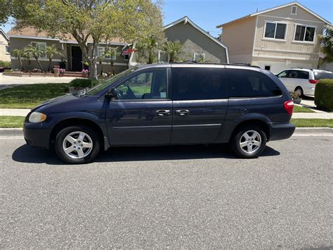
[(168, 99), (166, 68), (141, 70), (117, 87), (107, 107), (111, 145), (169, 144), (172, 101)]

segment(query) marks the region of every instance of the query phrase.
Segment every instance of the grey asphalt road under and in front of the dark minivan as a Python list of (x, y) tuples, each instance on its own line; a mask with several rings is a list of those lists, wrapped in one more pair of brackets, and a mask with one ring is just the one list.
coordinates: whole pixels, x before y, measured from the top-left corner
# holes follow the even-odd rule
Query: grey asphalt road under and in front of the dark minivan
[(0, 248), (329, 248), (333, 137), (119, 148), (63, 165), (0, 140)]

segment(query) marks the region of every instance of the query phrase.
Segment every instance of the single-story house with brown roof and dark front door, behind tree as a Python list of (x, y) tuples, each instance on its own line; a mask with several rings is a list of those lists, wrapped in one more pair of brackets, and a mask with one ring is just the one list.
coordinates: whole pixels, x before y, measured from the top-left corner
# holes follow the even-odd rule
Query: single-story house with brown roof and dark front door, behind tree
[[(23, 49), (27, 45), (38, 46), (39, 49), (45, 49), (46, 46), (51, 46), (55, 44), (58, 52), (62, 55), (56, 55), (53, 58), (51, 68), (54, 65), (60, 65), (60, 68), (65, 68), (67, 71), (81, 72), (84, 66), (84, 58), (82, 55), (82, 51), (77, 44), (77, 41), (71, 35), (66, 35), (66, 40), (57, 38), (57, 37), (49, 37), (45, 32), (38, 32), (33, 27), (24, 27), (20, 30), (16, 30), (15, 28), (8, 32), (8, 37), (11, 40), (11, 50), (14, 49)], [(88, 39), (88, 46), (91, 48), (92, 41)], [(112, 60), (115, 63), (115, 72), (119, 73), (128, 68), (129, 56), (123, 56), (122, 51), (126, 48), (127, 44), (124, 42), (120, 42), (117, 39), (112, 40), (108, 44), (100, 43), (98, 46), (98, 56), (103, 56), (103, 52), (108, 47), (117, 48), (118, 55), (114, 56)], [(39, 58), (41, 61), (42, 67), (47, 70), (48, 68), (48, 58), (47, 56), (42, 56)], [(102, 61), (103, 72), (108, 73), (111, 72), (110, 58), (104, 58)], [(63, 62), (63, 63), (62, 63)], [(64, 64), (65, 62), (65, 64)], [(20, 63), (15, 56), (11, 56), (11, 64), (12, 68), (20, 68)], [(23, 67), (27, 68), (27, 61), (23, 61)], [(98, 62), (98, 73), (100, 73), (100, 63)], [(39, 68), (37, 62), (32, 58), (32, 68)]]

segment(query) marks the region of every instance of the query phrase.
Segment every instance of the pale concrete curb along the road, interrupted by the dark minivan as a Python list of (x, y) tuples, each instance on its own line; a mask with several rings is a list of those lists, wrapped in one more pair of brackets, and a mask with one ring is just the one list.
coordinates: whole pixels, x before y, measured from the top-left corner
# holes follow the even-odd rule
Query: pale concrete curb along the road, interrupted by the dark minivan
[[(330, 127), (296, 127), (292, 136), (333, 136)], [(23, 137), (22, 128), (0, 128), (0, 137)]]

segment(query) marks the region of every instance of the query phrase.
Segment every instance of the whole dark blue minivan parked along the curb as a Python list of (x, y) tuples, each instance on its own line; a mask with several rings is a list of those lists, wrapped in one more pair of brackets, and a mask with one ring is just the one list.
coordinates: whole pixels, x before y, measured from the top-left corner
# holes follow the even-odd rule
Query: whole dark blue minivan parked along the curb
[[(77, 96), (33, 108), (27, 144), (87, 163), (112, 146), (229, 143), (254, 158), (287, 139), (294, 103), (268, 70), (242, 65), (171, 63), (129, 69)], [(129, 153), (130, 154), (130, 153)]]

